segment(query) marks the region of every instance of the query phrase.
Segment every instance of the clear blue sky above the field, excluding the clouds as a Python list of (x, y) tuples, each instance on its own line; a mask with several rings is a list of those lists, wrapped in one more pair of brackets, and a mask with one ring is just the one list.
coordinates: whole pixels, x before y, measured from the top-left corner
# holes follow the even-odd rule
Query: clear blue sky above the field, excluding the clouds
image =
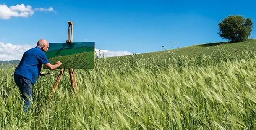
[[(256, 1), (234, 0), (0, 0), (8, 7), (17, 4), (49, 8), (32, 16), (0, 19), (0, 42), (35, 45), (37, 40), (65, 42), (68, 21), (74, 22), (73, 42), (96, 42), (97, 49), (146, 53), (171, 49), (171, 42), (185, 47), (221, 42), (218, 22), (228, 15), (256, 19)], [(251, 38), (256, 37), (253, 30)]]

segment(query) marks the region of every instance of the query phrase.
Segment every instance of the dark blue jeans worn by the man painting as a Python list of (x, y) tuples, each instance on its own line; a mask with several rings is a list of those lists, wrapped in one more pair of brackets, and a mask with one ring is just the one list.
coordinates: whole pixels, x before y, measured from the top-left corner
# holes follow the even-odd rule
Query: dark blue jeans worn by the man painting
[(21, 75), (14, 74), (13, 77), (14, 82), (21, 92), (21, 97), (25, 100), (24, 112), (27, 113), (32, 103), (32, 83), (29, 79)]

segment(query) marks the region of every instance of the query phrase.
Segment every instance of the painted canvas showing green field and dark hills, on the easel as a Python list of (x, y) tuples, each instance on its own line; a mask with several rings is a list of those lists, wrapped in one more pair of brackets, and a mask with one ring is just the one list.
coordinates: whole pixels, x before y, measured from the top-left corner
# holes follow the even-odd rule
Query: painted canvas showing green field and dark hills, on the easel
[(49, 43), (45, 54), (51, 64), (62, 63), (58, 69), (93, 69), (94, 48), (95, 42)]

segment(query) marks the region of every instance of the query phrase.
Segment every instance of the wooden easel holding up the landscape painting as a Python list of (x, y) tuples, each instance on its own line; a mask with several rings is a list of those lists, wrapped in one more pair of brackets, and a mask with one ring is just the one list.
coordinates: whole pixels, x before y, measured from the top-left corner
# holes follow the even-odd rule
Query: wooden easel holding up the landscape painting
[[(73, 25), (74, 25), (74, 23), (72, 21), (68, 21), (68, 40), (66, 40), (66, 43), (73, 42)], [(69, 70), (71, 85), (76, 92), (78, 90), (78, 88), (77, 88), (77, 84), (76, 84), (75, 72), (72, 68), (70, 68), (68, 70)], [(51, 95), (53, 95), (53, 93), (55, 93), (55, 90), (58, 88), (58, 84), (60, 82), (60, 79), (62, 79), (62, 75), (64, 74), (64, 71), (65, 71), (65, 69), (62, 68), (62, 70), (60, 71), (60, 74), (58, 75), (56, 83), (53, 87), (53, 91), (52, 91)]]

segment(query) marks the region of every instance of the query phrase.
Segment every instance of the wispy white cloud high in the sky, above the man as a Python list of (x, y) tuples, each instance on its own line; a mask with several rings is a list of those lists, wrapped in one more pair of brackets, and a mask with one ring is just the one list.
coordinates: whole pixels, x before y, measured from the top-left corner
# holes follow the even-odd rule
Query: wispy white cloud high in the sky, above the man
[(8, 7), (5, 4), (0, 5), (0, 19), (10, 19), (11, 17), (24, 17), (28, 18), (29, 16), (32, 16), (35, 11), (49, 11), (53, 12), (54, 9), (52, 7), (50, 8), (35, 8), (33, 9), (31, 5), (25, 6), (24, 4), (17, 4), (12, 5)]

